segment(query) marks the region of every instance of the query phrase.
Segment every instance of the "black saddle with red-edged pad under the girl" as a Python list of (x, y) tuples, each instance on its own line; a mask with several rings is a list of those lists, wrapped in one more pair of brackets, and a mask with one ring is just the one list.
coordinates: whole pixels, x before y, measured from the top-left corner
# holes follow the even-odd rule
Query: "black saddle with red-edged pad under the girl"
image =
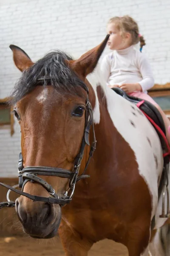
[[(168, 191), (168, 172), (169, 172), (169, 162), (170, 162), (170, 147), (167, 145), (166, 136), (166, 129), (164, 125), (164, 120), (161, 116), (159, 110), (150, 102), (139, 99), (137, 97), (127, 95), (122, 89), (119, 87), (112, 88), (117, 94), (122, 96), (123, 98), (127, 99), (128, 101), (132, 102), (133, 104), (137, 105), (138, 108), (145, 114), (147, 119), (149, 119), (150, 123), (155, 128), (163, 151), (164, 157), (164, 168), (161, 175), (161, 180), (159, 183), (158, 188), (158, 198), (161, 196), (161, 192), (163, 191), (163, 198), (162, 198), (162, 214), (159, 216), (160, 218), (168, 218), (170, 217), (170, 204), (169, 204), (169, 191)], [(142, 103), (142, 104), (140, 104)], [(156, 125), (158, 126), (156, 128)], [(160, 129), (158, 129), (160, 128)], [(165, 214), (165, 194), (167, 193), (167, 213)], [(155, 216), (151, 222), (151, 229), (155, 226)]]

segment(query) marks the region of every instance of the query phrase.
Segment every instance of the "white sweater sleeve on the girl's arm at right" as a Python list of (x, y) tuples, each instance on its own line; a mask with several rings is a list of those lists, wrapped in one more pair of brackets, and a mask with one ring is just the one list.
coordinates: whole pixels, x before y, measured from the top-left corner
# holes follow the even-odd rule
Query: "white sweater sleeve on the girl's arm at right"
[(139, 84), (142, 87), (142, 91), (147, 91), (154, 85), (153, 72), (147, 57), (143, 53), (139, 53), (139, 71), (142, 75), (142, 81)]

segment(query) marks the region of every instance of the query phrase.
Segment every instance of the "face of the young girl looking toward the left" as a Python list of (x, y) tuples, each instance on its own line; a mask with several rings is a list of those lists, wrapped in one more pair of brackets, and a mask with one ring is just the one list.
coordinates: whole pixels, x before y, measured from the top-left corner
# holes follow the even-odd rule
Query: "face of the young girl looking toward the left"
[(110, 34), (108, 39), (108, 47), (111, 50), (122, 50), (130, 46), (130, 34), (125, 33), (122, 37), (121, 32), (114, 23), (109, 23), (107, 33)]

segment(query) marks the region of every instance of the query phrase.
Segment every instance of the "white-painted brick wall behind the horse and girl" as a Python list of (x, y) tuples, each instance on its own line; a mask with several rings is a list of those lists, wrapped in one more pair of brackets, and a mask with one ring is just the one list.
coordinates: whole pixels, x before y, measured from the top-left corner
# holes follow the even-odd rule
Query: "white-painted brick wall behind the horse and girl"
[[(20, 76), (10, 44), (33, 61), (57, 48), (78, 57), (104, 39), (110, 17), (125, 14), (139, 22), (156, 82), (170, 82), (170, 0), (0, 0), (0, 98)], [(12, 138), (0, 128), (0, 176), (17, 175), (19, 152), (17, 123)]]

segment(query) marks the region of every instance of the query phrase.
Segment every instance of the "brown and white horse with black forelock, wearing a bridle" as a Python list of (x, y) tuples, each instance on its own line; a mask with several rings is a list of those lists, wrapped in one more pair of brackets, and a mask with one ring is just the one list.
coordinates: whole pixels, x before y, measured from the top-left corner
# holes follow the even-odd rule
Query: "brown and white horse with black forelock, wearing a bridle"
[(58, 232), (66, 256), (87, 256), (105, 238), (129, 256), (148, 255), (153, 216), (155, 229), (167, 220), (159, 218), (158, 134), (96, 68), (108, 37), (76, 60), (57, 50), (34, 63), (10, 46), (22, 72), (11, 94), (24, 170), (17, 216), (32, 238)]

